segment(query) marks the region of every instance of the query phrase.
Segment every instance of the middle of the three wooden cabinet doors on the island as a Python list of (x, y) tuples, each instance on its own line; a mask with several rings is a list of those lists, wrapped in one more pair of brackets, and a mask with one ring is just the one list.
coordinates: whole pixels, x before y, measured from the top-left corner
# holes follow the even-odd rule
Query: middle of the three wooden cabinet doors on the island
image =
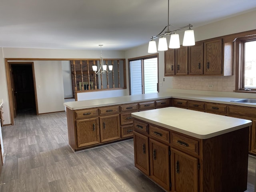
[(169, 146), (154, 139), (150, 142), (150, 177), (166, 190), (170, 190)]

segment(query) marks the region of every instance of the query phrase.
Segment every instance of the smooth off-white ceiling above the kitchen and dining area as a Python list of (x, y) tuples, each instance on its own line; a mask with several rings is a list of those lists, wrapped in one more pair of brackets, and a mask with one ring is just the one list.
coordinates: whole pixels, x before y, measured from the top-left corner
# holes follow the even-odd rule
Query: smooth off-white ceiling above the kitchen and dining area
[[(169, 18), (198, 27), (253, 10), (255, 0), (170, 0)], [(127, 50), (167, 19), (168, 0), (1, 0), (0, 47)]]

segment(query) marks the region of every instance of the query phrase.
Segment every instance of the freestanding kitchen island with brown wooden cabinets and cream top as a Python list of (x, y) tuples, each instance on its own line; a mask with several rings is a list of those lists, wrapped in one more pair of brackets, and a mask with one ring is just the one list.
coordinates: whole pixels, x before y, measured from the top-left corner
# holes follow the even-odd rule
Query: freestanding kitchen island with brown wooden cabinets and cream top
[(174, 107), (132, 117), (135, 166), (165, 190), (246, 190), (250, 120)]

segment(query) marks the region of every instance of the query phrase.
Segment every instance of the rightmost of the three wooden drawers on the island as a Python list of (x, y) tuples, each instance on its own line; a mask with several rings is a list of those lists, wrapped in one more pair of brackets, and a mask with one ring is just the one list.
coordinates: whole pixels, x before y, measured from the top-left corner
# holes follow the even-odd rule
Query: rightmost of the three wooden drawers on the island
[(171, 132), (171, 146), (199, 155), (199, 141)]

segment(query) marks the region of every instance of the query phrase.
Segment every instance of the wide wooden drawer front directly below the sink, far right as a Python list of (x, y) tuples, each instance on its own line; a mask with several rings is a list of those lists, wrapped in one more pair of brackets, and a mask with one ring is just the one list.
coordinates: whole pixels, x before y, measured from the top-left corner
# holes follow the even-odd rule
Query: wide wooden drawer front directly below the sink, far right
[(256, 118), (256, 108), (254, 107), (244, 107), (229, 105), (228, 114), (235, 114), (239, 116), (244, 116), (245, 118)]

